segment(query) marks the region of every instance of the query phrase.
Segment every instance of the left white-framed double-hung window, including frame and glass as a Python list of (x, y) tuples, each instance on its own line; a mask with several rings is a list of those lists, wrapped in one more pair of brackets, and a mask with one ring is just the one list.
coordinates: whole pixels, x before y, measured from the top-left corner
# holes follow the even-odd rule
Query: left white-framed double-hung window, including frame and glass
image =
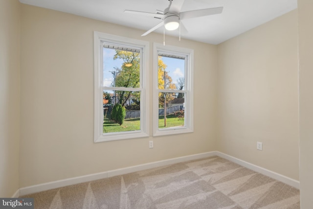
[(94, 141), (147, 137), (149, 43), (94, 32)]

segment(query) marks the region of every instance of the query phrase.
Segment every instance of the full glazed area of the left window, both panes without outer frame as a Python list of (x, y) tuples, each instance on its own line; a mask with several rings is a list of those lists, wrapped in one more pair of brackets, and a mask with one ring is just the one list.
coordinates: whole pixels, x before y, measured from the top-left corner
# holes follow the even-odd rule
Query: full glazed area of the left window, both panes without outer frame
[(103, 133), (140, 130), (140, 98), (140, 50), (104, 44)]

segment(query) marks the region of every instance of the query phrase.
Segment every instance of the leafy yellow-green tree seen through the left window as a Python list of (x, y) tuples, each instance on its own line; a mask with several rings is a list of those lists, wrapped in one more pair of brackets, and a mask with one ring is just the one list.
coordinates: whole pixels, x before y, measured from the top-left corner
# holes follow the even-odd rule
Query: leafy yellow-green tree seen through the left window
[[(114, 68), (114, 86), (138, 88), (140, 81), (140, 54), (132, 51), (115, 50), (114, 60), (123, 60), (123, 65), (120, 68)], [(131, 66), (127, 65), (131, 64)], [(118, 102), (125, 106), (126, 102), (132, 99), (140, 100), (140, 95), (130, 91), (116, 91)]]

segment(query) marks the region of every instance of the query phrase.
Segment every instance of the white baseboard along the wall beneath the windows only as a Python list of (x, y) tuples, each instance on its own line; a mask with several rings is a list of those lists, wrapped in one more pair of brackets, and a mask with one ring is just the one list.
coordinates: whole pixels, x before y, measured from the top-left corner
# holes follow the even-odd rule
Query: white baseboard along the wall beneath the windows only
[(179, 158), (168, 159), (168, 160), (164, 160), (164, 161), (157, 161), (157, 162), (153, 162), (153, 163), (145, 163), (145, 164), (135, 165), (135, 166), (131, 166), (131, 167), (126, 167), (126, 168), (121, 168), (121, 169), (116, 169), (116, 170), (111, 170), (111, 171), (106, 171), (106, 172), (101, 172), (101, 173), (90, 174), (90, 175), (86, 175), (86, 176), (79, 176), (79, 177), (54, 181), (54, 182), (48, 182), (48, 183), (40, 184), (40, 185), (22, 187), (22, 188), (20, 188), (20, 195), (22, 196), (22, 195), (26, 195), (26, 194), (32, 194), (32, 193), (45, 191), (45, 190), (53, 189), (53, 188), (58, 188), (58, 187), (62, 187), (62, 186), (69, 186), (69, 185), (94, 181), (94, 180), (98, 180), (98, 179), (109, 178), (112, 176), (123, 175), (123, 174), (127, 174), (127, 173), (132, 173), (132, 172), (136, 172), (136, 171), (140, 171), (140, 170), (155, 168), (155, 167), (159, 167), (159, 166), (170, 165), (170, 164), (174, 164), (174, 163), (181, 163), (181, 162), (190, 161), (190, 160), (207, 158), (207, 157), (211, 157), (211, 156), (215, 156), (215, 155), (216, 155), (216, 152), (206, 152), (206, 153), (201, 153), (201, 154), (195, 154), (195, 155), (189, 155), (189, 156), (184, 156), (184, 157), (179, 157)]

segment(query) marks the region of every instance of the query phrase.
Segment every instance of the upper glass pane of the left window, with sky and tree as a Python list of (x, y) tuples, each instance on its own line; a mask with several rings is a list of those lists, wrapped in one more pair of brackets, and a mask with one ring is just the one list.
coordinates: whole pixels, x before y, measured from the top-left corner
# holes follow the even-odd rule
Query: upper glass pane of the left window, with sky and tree
[(103, 48), (103, 86), (139, 88), (140, 53)]

